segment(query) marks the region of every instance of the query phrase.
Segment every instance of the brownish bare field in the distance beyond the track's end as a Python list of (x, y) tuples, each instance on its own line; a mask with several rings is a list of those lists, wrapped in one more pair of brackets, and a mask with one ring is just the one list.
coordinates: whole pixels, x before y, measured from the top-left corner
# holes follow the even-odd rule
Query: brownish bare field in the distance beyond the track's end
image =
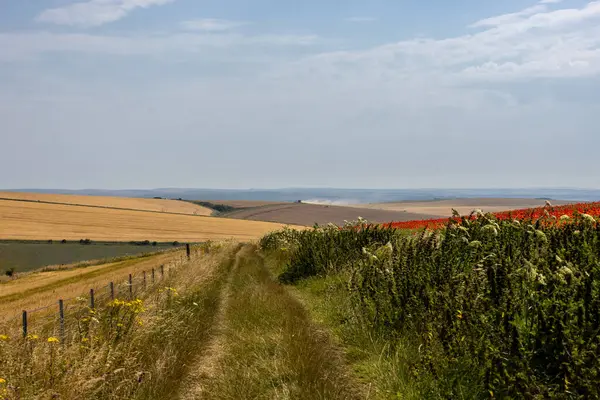
[(344, 221), (356, 220), (358, 217), (365, 218), (374, 223), (383, 223), (390, 221), (429, 219), (435, 218), (435, 215), (369, 208), (352, 208), (298, 203), (262, 206), (240, 211), (233, 211), (227, 214), (227, 218), (269, 221), (304, 226), (312, 226), (315, 223), (318, 223), (319, 225), (325, 225), (330, 222), (337, 225), (343, 225)]

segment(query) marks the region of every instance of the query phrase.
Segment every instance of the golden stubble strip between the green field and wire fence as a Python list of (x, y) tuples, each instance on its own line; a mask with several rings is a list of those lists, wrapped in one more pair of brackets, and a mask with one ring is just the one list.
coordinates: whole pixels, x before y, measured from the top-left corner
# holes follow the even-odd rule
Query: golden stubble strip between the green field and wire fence
[(180, 263), (184, 256), (185, 250), (180, 250), (95, 267), (28, 274), (0, 284), (0, 321), (14, 317), (21, 310), (56, 304), (60, 298), (85, 295), (91, 288), (107, 289), (109, 282), (125, 282), (129, 274), (141, 274), (155, 268), (158, 278), (161, 265)]

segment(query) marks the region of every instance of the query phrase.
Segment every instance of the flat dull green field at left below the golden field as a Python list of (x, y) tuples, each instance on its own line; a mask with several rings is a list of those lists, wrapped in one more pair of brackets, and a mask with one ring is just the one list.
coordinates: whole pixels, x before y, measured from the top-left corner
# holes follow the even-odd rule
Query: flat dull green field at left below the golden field
[(73, 264), (87, 260), (101, 260), (151, 253), (173, 248), (172, 243), (140, 246), (128, 243), (60, 243), (53, 242), (0, 242), (0, 274), (9, 268), (27, 272), (48, 265)]

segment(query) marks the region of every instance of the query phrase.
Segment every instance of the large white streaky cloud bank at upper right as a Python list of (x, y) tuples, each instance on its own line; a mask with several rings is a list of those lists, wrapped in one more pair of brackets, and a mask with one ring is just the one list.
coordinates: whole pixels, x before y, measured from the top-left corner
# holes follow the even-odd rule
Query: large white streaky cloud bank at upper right
[(581, 8), (535, 5), (478, 21), (480, 32), (445, 39), (410, 39), (366, 51), (309, 57), (292, 66), (307, 72), (379, 80), (460, 83), (600, 73), (600, 1)]

